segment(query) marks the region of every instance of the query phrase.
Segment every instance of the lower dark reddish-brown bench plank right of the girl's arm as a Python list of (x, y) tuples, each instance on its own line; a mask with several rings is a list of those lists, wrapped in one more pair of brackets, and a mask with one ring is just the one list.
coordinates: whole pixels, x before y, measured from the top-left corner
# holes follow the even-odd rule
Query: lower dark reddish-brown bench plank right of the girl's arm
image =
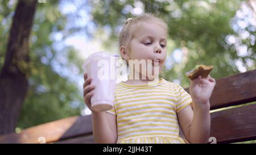
[(256, 139), (256, 104), (211, 113), (211, 137), (217, 143)]

